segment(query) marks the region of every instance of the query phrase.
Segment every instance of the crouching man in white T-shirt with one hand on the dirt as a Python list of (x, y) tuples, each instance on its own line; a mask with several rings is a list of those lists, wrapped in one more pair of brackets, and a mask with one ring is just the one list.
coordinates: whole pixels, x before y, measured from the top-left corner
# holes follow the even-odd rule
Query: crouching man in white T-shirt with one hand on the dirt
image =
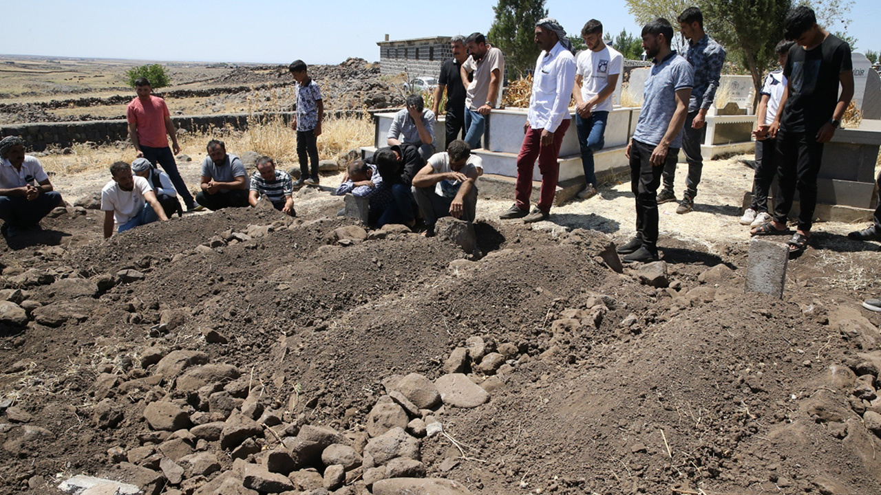
[(144, 177), (131, 174), (131, 166), (117, 161), (110, 166), (113, 180), (101, 189), (101, 211), (104, 211), (104, 239), (117, 232), (147, 225), (168, 217)]

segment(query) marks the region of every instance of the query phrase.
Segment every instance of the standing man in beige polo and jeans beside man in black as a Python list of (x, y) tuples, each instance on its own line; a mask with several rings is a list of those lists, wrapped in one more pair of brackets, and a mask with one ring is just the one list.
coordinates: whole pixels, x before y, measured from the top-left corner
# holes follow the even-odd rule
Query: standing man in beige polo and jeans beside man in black
[(486, 42), (481, 33), (465, 39), (470, 54), (462, 64), (460, 78), (465, 93), (465, 142), (479, 148), (490, 111), (501, 101), (501, 80), (505, 77), (505, 55)]

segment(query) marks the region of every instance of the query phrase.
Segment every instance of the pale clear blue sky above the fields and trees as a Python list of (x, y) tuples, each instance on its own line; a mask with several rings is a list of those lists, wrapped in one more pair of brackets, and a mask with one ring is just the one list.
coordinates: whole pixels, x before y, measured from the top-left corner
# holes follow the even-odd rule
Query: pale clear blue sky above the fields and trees
[[(4, 3), (0, 53), (228, 63), (374, 62), (376, 41), (485, 33), (491, 0), (30, 0)], [(391, 7), (395, 5), (395, 7)], [(624, 0), (547, 0), (570, 34), (590, 18), (606, 32), (638, 33)], [(881, 51), (881, 2), (855, 0), (848, 33), (858, 51)], [(832, 26), (833, 31), (843, 26)], [(711, 33), (712, 34), (712, 33)]]

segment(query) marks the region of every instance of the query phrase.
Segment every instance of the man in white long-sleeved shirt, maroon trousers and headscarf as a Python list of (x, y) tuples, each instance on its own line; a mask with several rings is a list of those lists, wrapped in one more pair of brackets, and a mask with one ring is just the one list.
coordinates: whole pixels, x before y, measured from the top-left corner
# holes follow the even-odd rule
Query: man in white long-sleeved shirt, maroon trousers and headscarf
[[(516, 202), (500, 218), (523, 218), (524, 223), (546, 220), (550, 215), (559, 177), (559, 147), (569, 129), (569, 99), (575, 80), (575, 57), (566, 31), (553, 18), (536, 23), (538, 55), (532, 77), (529, 114), (523, 124), (523, 144), (517, 155)], [(538, 159), (542, 188), (536, 208), (529, 213), (532, 169)]]

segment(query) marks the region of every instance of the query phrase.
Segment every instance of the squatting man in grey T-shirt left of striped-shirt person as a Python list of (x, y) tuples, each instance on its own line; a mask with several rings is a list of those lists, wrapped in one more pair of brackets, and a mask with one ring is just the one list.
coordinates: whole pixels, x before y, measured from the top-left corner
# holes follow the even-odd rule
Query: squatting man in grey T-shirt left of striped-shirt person
[(248, 207), (248, 172), (239, 157), (226, 152), (217, 139), (208, 142), (208, 156), (202, 162), (202, 190), (196, 203), (209, 210)]

